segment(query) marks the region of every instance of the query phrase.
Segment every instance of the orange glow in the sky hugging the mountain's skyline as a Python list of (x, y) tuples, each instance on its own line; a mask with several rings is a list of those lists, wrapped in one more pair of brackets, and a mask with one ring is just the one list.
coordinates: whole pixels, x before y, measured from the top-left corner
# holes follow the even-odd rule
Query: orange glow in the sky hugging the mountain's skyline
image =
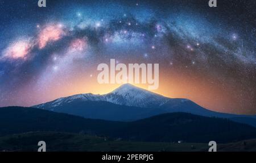
[[(230, 97), (228, 91), (223, 91), (216, 82), (209, 82), (206, 78), (181, 76), (178, 72), (171, 75), (165, 74), (165, 76), (160, 74), (159, 77), (159, 88), (149, 91), (164, 97), (189, 99), (204, 108), (218, 112), (237, 113), (234, 112), (233, 108), (241, 107), (239, 101), (234, 102), (236, 97)], [(148, 90), (147, 84), (131, 84)], [(31, 91), (27, 94), (28, 97), (31, 97), (30, 101), (27, 101), (27, 106), (38, 105), (75, 94), (108, 94), (121, 85), (100, 84), (97, 82), (97, 73), (93, 73), (91, 77), (90, 74), (83, 74), (82, 76), (76, 74), (76, 76), (72, 76), (69, 80), (63, 80), (61, 83), (49, 83), (43, 91)], [(24, 90), (27, 90), (27, 87), (24, 87)], [(20, 92), (24, 91), (21, 90)], [(19, 105), (18, 102), (17, 105)]]

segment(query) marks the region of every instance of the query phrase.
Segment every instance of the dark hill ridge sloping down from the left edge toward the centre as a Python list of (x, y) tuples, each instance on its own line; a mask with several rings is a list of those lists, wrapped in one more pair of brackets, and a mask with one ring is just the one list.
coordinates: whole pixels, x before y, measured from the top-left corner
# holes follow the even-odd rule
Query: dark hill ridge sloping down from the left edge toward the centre
[(122, 123), (85, 119), (37, 108), (0, 108), (0, 136), (34, 131), (104, 133), (112, 127), (118, 127), (119, 124)]

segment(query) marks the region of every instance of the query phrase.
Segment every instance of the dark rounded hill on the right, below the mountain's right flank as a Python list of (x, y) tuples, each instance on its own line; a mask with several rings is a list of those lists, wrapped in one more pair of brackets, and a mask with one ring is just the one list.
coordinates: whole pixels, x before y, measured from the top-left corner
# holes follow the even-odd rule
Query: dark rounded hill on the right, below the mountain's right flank
[[(242, 126), (245, 128), (241, 128)], [(254, 135), (255, 129), (251, 127), (247, 130), (247, 127), (247, 125), (234, 123), (228, 119), (208, 118), (178, 112), (131, 122), (130, 126), (124, 128), (120, 134), (125, 137), (130, 133), (136, 140), (146, 139), (147, 141), (152, 141), (156, 137), (160, 141), (170, 141), (171, 137), (171, 140), (174, 141), (206, 143), (214, 140), (218, 143), (225, 143), (230, 140), (245, 140), (247, 137), (245, 135)], [(129, 133), (125, 132), (127, 130)]]

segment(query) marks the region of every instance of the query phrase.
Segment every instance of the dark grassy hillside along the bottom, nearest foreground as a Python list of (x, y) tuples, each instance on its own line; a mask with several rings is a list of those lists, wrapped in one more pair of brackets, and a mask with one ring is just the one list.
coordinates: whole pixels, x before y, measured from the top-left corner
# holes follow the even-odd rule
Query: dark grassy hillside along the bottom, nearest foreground
[[(208, 143), (159, 143), (123, 141), (104, 137), (61, 132), (27, 132), (0, 137), (0, 151), (34, 151), (38, 142), (46, 141), (48, 152), (79, 151), (208, 151)], [(256, 151), (256, 139), (218, 144), (217, 151)]]

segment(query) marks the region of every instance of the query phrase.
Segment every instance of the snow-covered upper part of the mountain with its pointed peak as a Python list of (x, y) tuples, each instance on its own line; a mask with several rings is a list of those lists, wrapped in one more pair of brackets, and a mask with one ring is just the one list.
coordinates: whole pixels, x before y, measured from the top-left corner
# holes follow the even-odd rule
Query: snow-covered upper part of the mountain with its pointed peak
[(105, 95), (96, 94), (77, 94), (65, 98), (59, 98), (52, 102), (36, 105), (37, 108), (57, 107), (64, 103), (73, 101), (105, 101), (117, 105), (136, 106), (136, 107), (159, 107), (169, 101), (170, 98), (152, 93), (150, 91), (135, 87), (129, 83), (122, 85), (114, 91)]

